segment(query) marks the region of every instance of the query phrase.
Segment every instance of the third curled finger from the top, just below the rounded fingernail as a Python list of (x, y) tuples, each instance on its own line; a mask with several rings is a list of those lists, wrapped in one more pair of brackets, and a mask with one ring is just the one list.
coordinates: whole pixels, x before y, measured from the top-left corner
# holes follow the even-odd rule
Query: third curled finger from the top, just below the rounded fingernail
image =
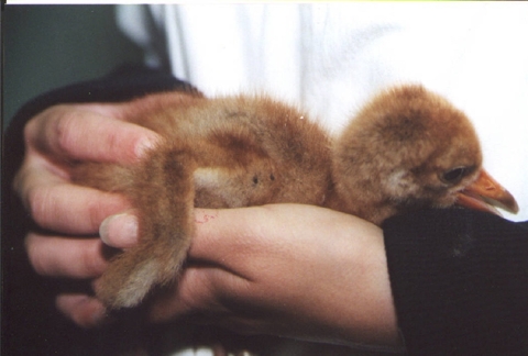
[(29, 233), (25, 246), (31, 265), (43, 276), (76, 279), (100, 276), (108, 265), (108, 247), (99, 238)]

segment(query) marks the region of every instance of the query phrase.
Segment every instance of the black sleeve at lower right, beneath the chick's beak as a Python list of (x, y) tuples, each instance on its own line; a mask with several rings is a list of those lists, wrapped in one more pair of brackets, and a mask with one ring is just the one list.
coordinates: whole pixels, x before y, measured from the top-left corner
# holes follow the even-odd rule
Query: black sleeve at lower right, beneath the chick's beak
[(383, 225), (410, 355), (528, 355), (528, 225), (465, 209)]

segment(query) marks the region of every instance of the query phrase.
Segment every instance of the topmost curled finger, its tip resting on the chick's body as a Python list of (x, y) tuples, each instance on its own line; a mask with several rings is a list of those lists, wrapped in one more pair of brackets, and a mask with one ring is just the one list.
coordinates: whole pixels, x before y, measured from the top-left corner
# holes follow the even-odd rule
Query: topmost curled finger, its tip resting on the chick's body
[(25, 127), (26, 142), (63, 160), (136, 162), (160, 141), (145, 127), (103, 115), (82, 105), (53, 107)]

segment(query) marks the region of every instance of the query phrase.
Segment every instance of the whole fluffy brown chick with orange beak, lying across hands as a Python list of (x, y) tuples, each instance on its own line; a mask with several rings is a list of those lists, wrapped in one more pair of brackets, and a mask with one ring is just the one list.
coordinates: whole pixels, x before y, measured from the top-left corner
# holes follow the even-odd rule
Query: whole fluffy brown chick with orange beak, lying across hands
[(131, 107), (130, 120), (163, 142), (136, 165), (82, 163), (72, 171), (74, 181), (123, 193), (139, 210), (140, 243), (112, 259), (96, 291), (109, 309), (135, 307), (154, 287), (176, 280), (195, 207), (295, 202), (375, 224), (457, 202), (518, 210), (482, 169), (468, 118), (421, 86), (374, 97), (336, 138), (267, 97), (168, 92)]

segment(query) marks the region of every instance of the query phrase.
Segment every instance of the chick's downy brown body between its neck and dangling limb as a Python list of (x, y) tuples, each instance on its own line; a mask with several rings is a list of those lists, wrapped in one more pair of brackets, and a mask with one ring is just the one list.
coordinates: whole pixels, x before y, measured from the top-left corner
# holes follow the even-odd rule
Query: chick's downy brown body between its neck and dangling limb
[(138, 104), (133, 122), (164, 136), (164, 149), (193, 156), (196, 207), (323, 202), (330, 138), (297, 108), (265, 96), (175, 93)]

